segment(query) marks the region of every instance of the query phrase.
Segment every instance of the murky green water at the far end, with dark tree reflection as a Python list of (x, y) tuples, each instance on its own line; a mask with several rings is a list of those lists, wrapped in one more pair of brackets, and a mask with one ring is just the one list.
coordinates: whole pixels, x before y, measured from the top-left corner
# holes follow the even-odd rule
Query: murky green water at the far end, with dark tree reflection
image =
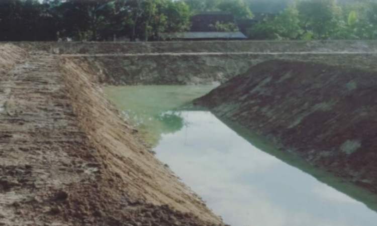
[(179, 110), (193, 99), (205, 95), (215, 85), (108, 86), (105, 93), (124, 113), (125, 120), (140, 131), (151, 146), (161, 135), (183, 127)]

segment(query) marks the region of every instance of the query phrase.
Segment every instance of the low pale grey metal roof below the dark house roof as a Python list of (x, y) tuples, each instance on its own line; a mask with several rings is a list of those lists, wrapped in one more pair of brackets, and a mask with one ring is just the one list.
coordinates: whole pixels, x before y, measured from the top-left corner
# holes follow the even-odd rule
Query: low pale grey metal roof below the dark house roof
[(161, 33), (163, 39), (247, 39), (242, 32), (181, 32)]

